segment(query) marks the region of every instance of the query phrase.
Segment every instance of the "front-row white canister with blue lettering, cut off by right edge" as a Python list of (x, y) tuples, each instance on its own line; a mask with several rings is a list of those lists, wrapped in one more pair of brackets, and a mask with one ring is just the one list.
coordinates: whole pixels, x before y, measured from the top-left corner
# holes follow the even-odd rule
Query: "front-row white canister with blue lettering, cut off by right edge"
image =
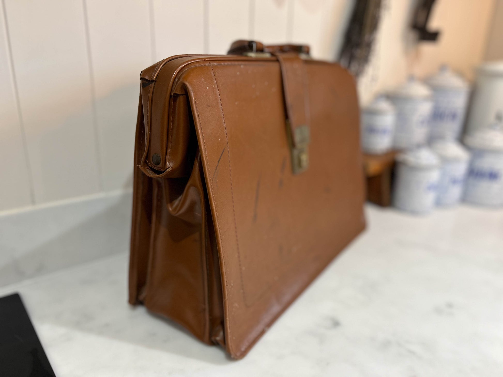
[(472, 151), (464, 200), (483, 206), (503, 205), (503, 127), (493, 124), (465, 137)]

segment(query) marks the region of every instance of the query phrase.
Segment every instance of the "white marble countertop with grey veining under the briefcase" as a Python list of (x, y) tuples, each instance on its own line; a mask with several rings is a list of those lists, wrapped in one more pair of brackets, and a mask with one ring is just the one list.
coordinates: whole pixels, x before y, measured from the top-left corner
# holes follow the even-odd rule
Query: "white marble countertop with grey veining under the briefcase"
[(0, 296), (21, 294), (58, 376), (501, 377), (503, 211), (367, 215), (367, 231), (239, 361), (131, 308), (126, 253)]

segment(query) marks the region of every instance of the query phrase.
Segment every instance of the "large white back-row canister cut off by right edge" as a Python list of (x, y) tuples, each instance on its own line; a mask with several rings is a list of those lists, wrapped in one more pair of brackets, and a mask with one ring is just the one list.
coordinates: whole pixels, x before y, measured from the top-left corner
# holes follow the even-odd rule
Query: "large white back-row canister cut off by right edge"
[(477, 68), (466, 133), (485, 128), (498, 112), (503, 112), (503, 60)]

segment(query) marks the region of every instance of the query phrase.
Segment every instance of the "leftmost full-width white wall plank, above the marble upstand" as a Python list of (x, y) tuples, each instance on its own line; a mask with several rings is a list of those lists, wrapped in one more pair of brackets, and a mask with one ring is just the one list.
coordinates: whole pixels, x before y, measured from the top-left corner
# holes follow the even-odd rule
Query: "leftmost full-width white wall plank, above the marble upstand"
[(35, 202), (100, 190), (82, 2), (5, 0)]

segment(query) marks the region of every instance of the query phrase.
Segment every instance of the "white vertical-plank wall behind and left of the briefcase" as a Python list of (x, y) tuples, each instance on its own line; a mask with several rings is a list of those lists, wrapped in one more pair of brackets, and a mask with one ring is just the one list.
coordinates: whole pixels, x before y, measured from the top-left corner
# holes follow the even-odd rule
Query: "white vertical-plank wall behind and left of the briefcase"
[(143, 68), (252, 38), (333, 58), (354, 2), (0, 1), (0, 211), (129, 187)]

